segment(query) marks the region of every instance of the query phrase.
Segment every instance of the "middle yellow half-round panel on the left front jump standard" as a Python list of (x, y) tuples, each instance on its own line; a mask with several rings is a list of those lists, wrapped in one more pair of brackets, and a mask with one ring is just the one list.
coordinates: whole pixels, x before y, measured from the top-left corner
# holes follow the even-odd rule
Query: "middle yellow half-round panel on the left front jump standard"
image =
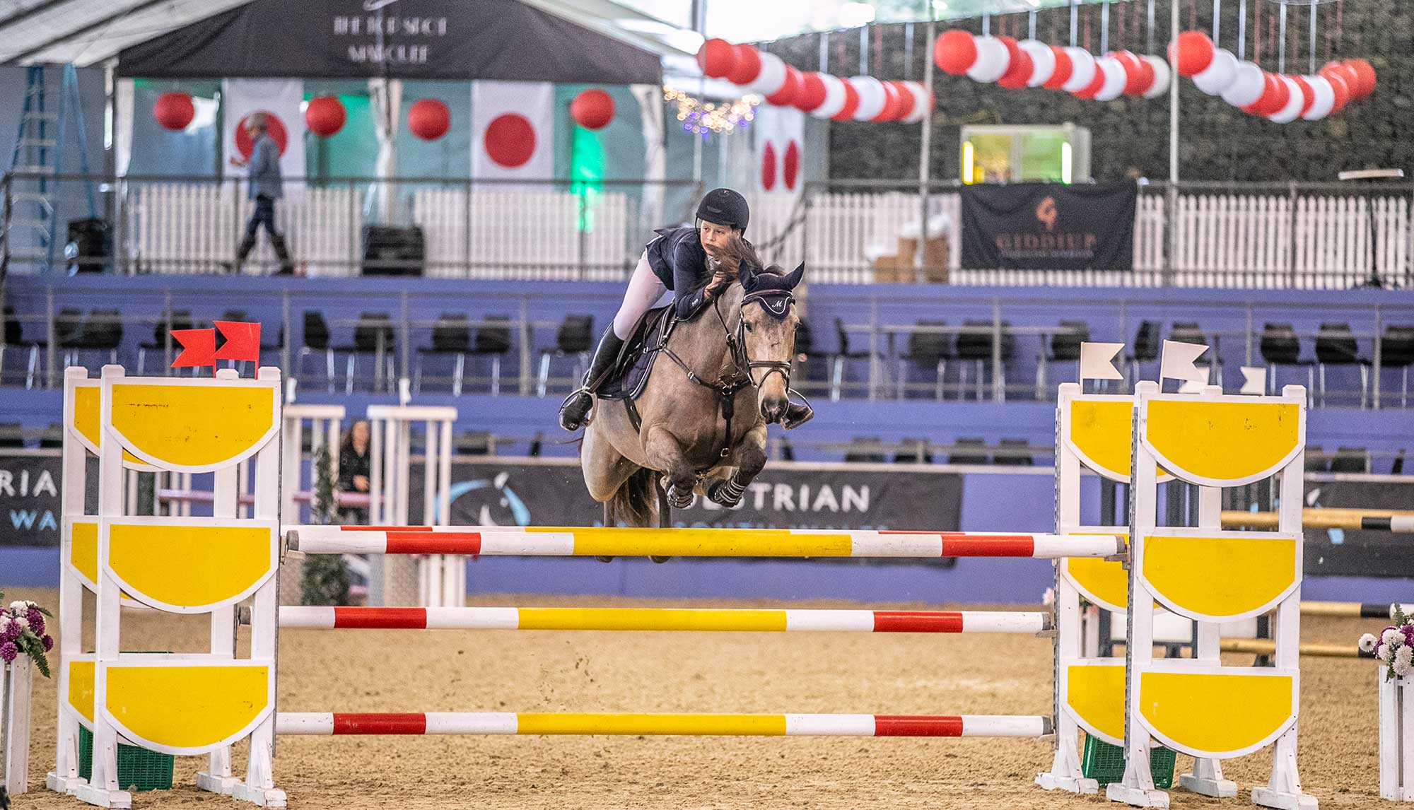
[(164, 611), (202, 612), (249, 597), (274, 574), (273, 529), (109, 524), (107, 564), (123, 589)]

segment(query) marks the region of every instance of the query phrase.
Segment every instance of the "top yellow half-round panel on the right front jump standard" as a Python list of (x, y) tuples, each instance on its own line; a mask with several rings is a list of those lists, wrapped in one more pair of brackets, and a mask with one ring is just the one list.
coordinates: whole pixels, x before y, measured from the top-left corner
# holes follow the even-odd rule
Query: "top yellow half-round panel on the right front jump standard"
[(1301, 447), (1301, 406), (1287, 401), (1154, 399), (1144, 441), (1162, 466), (1209, 486), (1266, 478)]

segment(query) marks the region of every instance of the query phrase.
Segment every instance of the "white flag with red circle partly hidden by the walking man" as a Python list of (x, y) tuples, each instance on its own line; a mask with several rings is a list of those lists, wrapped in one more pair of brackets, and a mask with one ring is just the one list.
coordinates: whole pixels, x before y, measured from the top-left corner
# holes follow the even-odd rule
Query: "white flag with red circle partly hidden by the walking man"
[[(225, 106), (226, 157), (250, 157), (250, 137), (245, 133), (246, 117), (266, 115), (266, 130), (280, 147), (280, 174), (284, 181), (304, 180), (304, 82), (300, 79), (226, 79), (221, 83)], [(243, 148), (242, 148), (243, 147)], [(245, 177), (246, 170), (226, 161), (228, 177)], [(288, 189), (286, 189), (288, 191)]]

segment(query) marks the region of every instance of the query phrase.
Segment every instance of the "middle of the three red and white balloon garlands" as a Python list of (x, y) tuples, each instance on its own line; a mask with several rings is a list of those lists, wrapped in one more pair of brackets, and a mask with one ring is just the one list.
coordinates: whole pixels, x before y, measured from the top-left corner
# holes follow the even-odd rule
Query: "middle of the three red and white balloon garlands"
[(1152, 99), (1168, 90), (1168, 62), (1130, 51), (1094, 57), (1083, 48), (1058, 48), (1036, 40), (977, 37), (952, 28), (933, 42), (933, 62), (945, 72), (1008, 89), (1046, 88), (1080, 99)]

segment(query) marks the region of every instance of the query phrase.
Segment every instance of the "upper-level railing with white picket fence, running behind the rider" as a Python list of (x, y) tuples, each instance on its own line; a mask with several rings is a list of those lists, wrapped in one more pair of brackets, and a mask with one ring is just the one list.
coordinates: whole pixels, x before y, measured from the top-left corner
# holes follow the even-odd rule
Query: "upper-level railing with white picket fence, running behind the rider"
[[(81, 237), (65, 257), (66, 222), (55, 249), (11, 228), (10, 201), (40, 180), (0, 178), (0, 271), (229, 273), (253, 211), (239, 178), (44, 175), (61, 221), (79, 211), (82, 184), (100, 192), (110, 246)], [(1414, 287), (1414, 184), (1182, 182), (1174, 211), (1165, 184), (1138, 189), (1131, 270), (964, 267), (957, 184), (940, 181), (752, 192), (749, 237), (766, 260), (805, 260), (817, 283)], [(653, 228), (691, 219), (701, 191), (691, 181), (351, 177), (288, 180), (276, 209), (301, 274), (619, 280)], [(383, 228), (417, 228), (413, 253), (380, 246)], [(242, 271), (277, 267), (260, 237)]]

